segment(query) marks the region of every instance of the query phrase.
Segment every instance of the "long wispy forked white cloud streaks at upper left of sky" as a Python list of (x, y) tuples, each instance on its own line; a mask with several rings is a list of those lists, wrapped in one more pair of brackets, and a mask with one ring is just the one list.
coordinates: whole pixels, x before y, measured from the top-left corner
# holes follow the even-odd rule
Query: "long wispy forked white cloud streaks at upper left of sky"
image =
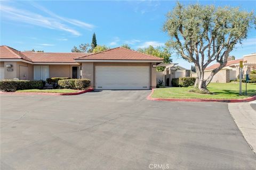
[(24, 22), (27, 24), (37, 25), (39, 27), (66, 31), (75, 36), (81, 36), (81, 33), (75, 30), (74, 28), (70, 28), (67, 25), (67, 23), (76, 25), (78, 27), (83, 27), (88, 30), (91, 30), (92, 28), (94, 28), (94, 25), (92, 24), (74, 20), (74, 19), (63, 18), (59, 15), (52, 13), (51, 11), (45, 9), (42, 6), (37, 5), (37, 8), (51, 15), (51, 17), (39, 15), (37, 13), (17, 9), (17, 8), (2, 5), (2, 4), (1, 4), (0, 10), (1, 10), (2, 17), (4, 18), (14, 20), (14, 21), (19, 21), (19, 22)]

